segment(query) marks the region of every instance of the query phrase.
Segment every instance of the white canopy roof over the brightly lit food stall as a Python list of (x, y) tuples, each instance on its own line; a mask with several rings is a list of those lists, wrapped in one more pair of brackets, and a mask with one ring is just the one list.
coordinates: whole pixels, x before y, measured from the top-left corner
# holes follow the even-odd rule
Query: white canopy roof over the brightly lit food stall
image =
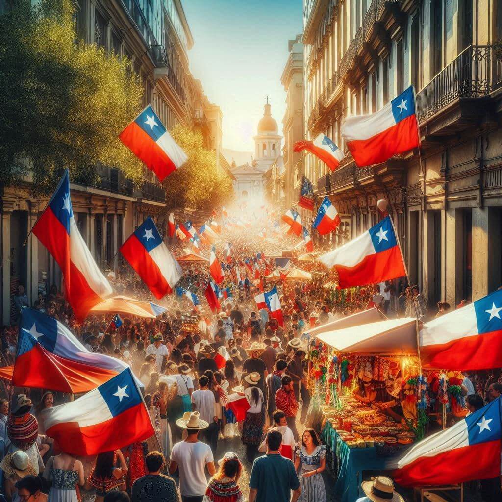
[(417, 320), (413, 317), (351, 326), (316, 337), (340, 352), (418, 355)]

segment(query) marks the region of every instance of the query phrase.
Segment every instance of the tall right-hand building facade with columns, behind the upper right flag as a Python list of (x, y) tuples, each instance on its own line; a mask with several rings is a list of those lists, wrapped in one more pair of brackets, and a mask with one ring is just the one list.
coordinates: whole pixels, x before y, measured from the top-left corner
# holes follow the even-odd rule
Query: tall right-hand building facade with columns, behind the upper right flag
[(416, 90), (421, 149), (334, 173), (305, 155), (305, 174), (328, 195), (353, 238), (386, 198), (410, 281), (429, 305), (476, 300), (502, 283), (502, 2), (305, 0), (305, 128), (346, 151), (344, 117), (372, 113)]

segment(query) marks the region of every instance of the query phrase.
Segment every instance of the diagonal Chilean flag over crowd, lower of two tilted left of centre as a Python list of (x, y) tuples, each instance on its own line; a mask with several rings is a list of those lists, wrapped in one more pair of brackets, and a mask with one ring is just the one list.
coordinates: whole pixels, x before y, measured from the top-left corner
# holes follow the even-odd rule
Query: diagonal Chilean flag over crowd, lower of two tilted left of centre
[(157, 298), (173, 292), (181, 278), (181, 268), (150, 216), (120, 246), (119, 251)]

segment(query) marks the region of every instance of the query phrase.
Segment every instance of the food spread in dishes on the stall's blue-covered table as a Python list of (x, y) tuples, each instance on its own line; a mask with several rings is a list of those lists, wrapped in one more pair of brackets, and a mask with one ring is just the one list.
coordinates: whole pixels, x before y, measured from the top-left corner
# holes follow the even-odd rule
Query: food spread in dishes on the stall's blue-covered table
[(351, 395), (340, 396), (340, 406), (323, 405), (322, 412), (349, 448), (408, 446), (415, 434), (376, 408), (370, 408)]

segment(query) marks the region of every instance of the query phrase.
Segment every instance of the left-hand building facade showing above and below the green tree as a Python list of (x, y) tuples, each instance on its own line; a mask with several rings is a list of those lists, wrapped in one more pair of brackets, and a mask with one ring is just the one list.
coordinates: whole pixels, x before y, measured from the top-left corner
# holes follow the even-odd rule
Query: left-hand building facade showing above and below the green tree
[[(221, 111), (189, 72), (193, 38), (180, 0), (74, 0), (73, 5), (77, 37), (129, 58), (144, 85), (144, 105), (152, 104), (168, 130), (176, 124), (201, 128), (207, 147), (220, 159)], [(115, 269), (118, 247), (147, 216), (165, 229), (165, 190), (145, 167), (139, 190), (116, 168), (98, 164), (96, 172), (99, 182), (93, 186), (79, 180), (71, 184), (73, 211), (97, 264), (102, 270)], [(61, 286), (59, 267), (45, 247), (33, 235), (27, 239), (48, 200), (33, 199), (30, 188), (30, 176), (2, 187), (4, 324), (17, 317), (12, 297), (19, 285), (32, 305), (52, 284)]]

